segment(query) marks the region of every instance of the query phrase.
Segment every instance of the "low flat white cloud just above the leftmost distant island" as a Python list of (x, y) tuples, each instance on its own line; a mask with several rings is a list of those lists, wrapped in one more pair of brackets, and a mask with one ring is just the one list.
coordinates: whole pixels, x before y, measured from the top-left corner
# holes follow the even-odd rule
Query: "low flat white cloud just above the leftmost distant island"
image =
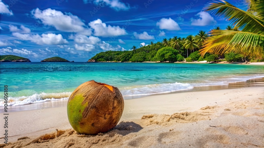
[(19, 55), (30, 55), (30, 56), (33, 56), (33, 57), (38, 57), (38, 55), (30, 50), (27, 50), (27, 49), (24, 49), (22, 48), (21, 50), (20, 49), (10, 49), (10, 48), (2, 48), (0, 49), (0, 53), (4, 53), (4, 54), (12, 54), (12, 53), (16, 53), (16, 54), (19, 54)]

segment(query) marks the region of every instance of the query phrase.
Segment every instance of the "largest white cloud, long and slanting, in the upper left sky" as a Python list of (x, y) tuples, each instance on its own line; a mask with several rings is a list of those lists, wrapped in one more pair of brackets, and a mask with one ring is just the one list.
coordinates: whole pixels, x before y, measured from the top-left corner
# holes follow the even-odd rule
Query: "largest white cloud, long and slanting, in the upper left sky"
[(57, 30), (64, 32), (76, 32), (84, 35), (91, 35), (92, 31), (77, 16), (71, 13), (63, 14), (55, 9), (40, 10), (36, 8), (31, 11), (36, 19), (40, 19), (43, 24), (55, 27)]

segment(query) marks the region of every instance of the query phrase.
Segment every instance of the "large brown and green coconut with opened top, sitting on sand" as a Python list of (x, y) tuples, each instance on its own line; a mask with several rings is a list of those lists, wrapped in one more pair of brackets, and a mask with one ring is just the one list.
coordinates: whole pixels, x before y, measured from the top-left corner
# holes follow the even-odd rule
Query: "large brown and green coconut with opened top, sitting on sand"
[(67, 103), (69, 123), (79, 134), (109, 131), (117, 125), (123, 110), (124, 99), (119, 89), (94, 80), (78, 86)]

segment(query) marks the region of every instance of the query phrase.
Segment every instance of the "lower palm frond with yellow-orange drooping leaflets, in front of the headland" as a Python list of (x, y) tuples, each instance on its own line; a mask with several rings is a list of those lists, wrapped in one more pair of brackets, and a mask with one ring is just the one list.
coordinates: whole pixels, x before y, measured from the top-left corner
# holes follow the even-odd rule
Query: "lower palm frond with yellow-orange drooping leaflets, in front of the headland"
[(204, 41), (200, 53), (223, 55), (229, 52), (244, 55), (263, 55), (264, 35), (234, 30), (211, 30), (211, 37)]

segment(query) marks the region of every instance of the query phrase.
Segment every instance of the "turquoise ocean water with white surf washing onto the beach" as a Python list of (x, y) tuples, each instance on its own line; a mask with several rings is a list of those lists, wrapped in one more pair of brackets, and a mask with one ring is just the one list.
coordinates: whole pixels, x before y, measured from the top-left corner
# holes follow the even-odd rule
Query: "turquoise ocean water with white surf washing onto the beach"
[(68, 99), (80, 84), (95, 80), (119, 88), (124, 99), (227, 85), (264, 77), (263, 65), (174, 63), (0, 63), (0, 106), (4, 85), (9, 105)]

